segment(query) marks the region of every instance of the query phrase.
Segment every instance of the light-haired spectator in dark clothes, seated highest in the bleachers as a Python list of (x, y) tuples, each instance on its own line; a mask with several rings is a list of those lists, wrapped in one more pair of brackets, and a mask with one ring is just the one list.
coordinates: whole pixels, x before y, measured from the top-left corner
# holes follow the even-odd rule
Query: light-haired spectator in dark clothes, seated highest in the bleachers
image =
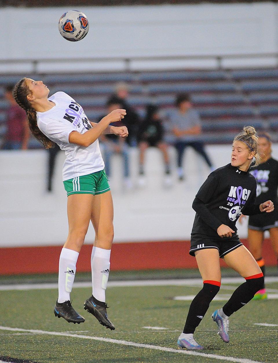
[(129, 87), (126, 83), (119, 83), (116, 86), (114, 96), (120, 99), (122, 107), (126, 110), (124, 117), (124, 126), (128, 129), (128, 138), (126, 142), (129, 146), (136, 146), (136, 135), (139, 126), (139, 116), (137, 112), (128, 104), (128, 90)]

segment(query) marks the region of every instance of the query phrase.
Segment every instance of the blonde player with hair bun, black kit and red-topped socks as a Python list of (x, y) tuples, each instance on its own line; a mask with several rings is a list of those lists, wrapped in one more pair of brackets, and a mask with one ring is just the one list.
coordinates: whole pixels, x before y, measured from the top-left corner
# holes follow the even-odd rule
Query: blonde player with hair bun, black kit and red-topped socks
[(203, 346), (193, 338), (209, 304), (220, 289), (219, 257), (237, 271), (246, 282), (240, 285), (229, 301), (214, 311), (212, 319), (218, 325), (218, 334), (229, 342), (229, 316), (246, 305), (263, 287), (261, 269), (252, 254), (242, 245), (237, 235), (236, 221), (241, 213), (255, 215), (274, 210), (271, 200), (254, 204), (256, 180), (249, 173), (253, 158), (258, 165), (257, 135), (253, 127), (244, 127), (232, 146), (231, 163), (213, 171), (199, 189), (192, 207), (196, 216), (191, 233), (190, 254), (196, 257), (203, 278), (203, 289), (193, 299), (178, 346), (201, 350)]

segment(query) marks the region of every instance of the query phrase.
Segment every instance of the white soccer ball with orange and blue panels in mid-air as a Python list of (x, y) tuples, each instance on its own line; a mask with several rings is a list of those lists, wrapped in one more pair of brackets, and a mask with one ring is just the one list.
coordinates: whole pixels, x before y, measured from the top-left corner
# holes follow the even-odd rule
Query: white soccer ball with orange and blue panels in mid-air
[(70, 10), (60, 17), (58, 28), (63, 38), (77, 42), (86, 37), (89, 31), (89, 21), (86, 15), (80, 11)]

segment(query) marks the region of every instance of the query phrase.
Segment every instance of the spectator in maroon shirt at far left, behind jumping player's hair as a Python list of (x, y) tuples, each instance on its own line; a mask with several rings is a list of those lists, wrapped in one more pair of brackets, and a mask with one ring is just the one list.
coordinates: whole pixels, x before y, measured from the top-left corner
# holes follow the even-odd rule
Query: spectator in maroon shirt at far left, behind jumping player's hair
[(5, 99), (9, 103), (7, 109), (7, 131), (4, 136), (4, 150), (26, 150), (29, 141), (29, 127), (25, 111), (17, 105), (12, 95), (13, 86), (5, 89)]

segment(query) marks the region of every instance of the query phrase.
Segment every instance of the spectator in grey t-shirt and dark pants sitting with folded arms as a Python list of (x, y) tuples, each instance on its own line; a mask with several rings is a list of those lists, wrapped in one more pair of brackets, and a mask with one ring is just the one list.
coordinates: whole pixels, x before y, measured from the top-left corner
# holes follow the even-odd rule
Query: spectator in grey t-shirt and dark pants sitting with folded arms
[(213, 170), (212, 162), (205, 151), (204, 143), (196, 137), (201, 134), (201, 121), (197, 111), (192, 108), (189, 94), (184, 93), (177, 96), (176, 109), (169, 111), (168, 121), (170, 141), (177, 150), (179, 180), (184, 180), (182, 162), (184, 150), (188, 146), (191, 146), (200, 154), (209, 168)]

